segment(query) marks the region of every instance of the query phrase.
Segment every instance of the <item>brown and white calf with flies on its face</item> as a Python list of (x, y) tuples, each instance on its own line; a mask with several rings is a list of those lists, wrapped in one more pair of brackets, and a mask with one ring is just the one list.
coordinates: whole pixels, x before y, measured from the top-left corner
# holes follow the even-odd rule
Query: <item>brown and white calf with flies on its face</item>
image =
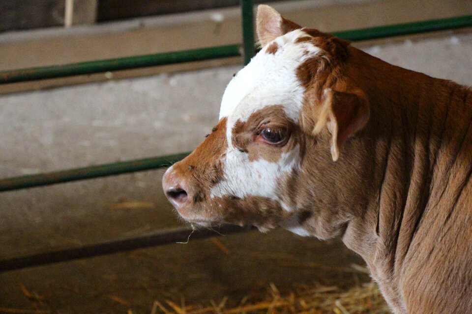
[(163, 178), (186, 221), (341, 236), (396, 314), (472, 313), (472, 92), (261, 5), (263, 47)]

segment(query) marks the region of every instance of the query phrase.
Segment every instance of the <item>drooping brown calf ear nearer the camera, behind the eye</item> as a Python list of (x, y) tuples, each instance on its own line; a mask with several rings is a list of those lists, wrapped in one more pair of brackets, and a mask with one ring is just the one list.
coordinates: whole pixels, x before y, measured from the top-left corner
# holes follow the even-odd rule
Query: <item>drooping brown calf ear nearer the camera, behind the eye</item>
[(369, 104), (363, 96), (326, 88), (323, 93), (320, 117), (313, 129), (318, 134), (327, 127), (331, 133), (331, 156), (339, 158), (339, 150), (346, 140), (361, 130), (369, 121)]

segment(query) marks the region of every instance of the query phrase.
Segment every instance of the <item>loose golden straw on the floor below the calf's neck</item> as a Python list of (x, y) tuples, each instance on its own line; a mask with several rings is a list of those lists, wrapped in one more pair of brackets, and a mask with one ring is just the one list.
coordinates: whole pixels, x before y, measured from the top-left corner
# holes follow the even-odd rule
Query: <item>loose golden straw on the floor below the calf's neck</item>
[(343, 290), (338, 287), (318, 286), (305, 288), (282, 296), (278, 289), (271, 285), (269, 296), (261, 302), (245, 303), (239, 306), (226, 307), (227, 298), (218, 305), (212, 301), (211, 306), (182, 306), (166, 300), (167, 307), (154, 302), (151, 314), (388, 314), (383, 297), (375, 283), (363, 284)]

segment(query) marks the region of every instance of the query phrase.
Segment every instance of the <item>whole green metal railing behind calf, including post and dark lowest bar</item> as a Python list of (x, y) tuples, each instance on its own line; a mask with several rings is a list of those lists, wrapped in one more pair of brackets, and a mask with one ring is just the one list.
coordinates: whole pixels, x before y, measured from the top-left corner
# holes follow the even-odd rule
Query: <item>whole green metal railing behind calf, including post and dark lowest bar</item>
[[(61, 78), (74, 75), (102, 73), (108, 71), (127, 70), (241, 55), (243, 56), (244, 64), (247, 64), (255, 52), (253, 6), (252, 0), (241, 0), (240, 2), (242, 14), (243, 47), (240, 47), (240, 45), (229, 45), (180, 52), (156, 53), (100, 61), (2, 71), (0, 72), (0, 84), (47, 78)], [(470, 26), (472, 26), (472, 15), (401, 25), (348, 30), (336, 32), (333, 34), (343, 39), (360, 41)], [(188, 153), (182, 153), (177, 155), (144, 158), (50, 173), (42, 173), (37, 175), (7, 178), (0, 180), (0, 192), (158, 169), (167, 167), (170, 164), (181, 160), (187, 155)], [(227, 228), (227, 232), (229, 233), (239, 231), (241, 231), (241, 229), (235, 229), (231, 227)], [(55, 252), (46, 252), (26, 257), (3, 260), (0, 261), (0, 271), (20, 269), (51, 262), (87, 258), (159, 244), (174, 243), (178, 240), (184, 239), (187, 232), (189, 231), (182, 229), (167, 230), (164, 232), (159, 231), (157, 233), (144, 235), (141, 237), (126, 238), (111, 242), (82, 246), (79, 248), (65, 249)], [(197, 233), (197, 237), (206, 236), (210, 236), (210, 234), (208, 232)]]

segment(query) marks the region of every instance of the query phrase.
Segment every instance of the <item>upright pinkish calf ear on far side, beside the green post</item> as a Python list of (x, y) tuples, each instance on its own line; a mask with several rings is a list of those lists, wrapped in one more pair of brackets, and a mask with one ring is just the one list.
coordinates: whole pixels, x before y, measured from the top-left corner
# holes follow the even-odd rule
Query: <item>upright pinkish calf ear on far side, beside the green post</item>
[(278, 36), (289, 31), (301, 28), (298, 24), (284, 19), (279, 12), (272, 7), (260, 4), (257, 7), (256, 29), (261, 47), (267, 45)]

